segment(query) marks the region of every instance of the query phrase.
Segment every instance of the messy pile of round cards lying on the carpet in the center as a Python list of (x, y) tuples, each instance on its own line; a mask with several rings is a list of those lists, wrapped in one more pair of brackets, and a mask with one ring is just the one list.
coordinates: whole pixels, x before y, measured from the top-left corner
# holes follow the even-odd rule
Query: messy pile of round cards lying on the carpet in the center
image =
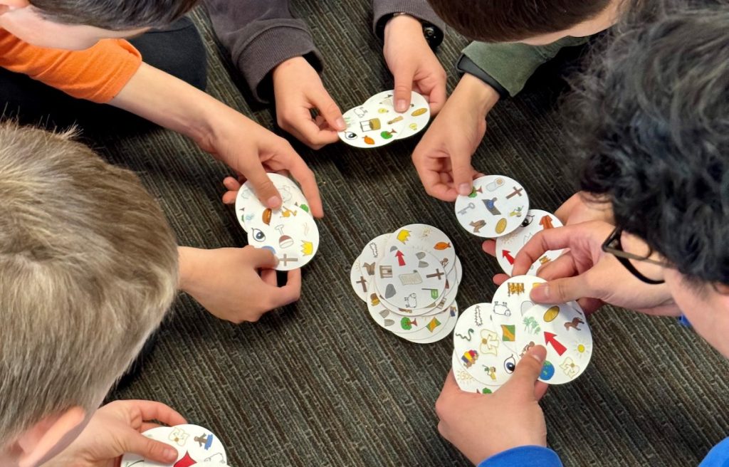
[(462, 273), (445, 233), (410, 224), (364, 246), (352, 265), (351, 284), (380, 326), (427, 344), (450, 336), (456, 326)]

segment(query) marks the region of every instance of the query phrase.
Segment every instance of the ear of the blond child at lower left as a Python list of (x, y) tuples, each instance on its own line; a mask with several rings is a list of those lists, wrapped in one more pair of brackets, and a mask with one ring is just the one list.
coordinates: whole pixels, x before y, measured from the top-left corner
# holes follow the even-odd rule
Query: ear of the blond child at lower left
[(78, 436), (85, 421), (86, 411), (81, 407), (71, 407), (61, 414), (45, 417), (15, 441), (17, 465), (34, 467), (49, 455), (58, 454)]

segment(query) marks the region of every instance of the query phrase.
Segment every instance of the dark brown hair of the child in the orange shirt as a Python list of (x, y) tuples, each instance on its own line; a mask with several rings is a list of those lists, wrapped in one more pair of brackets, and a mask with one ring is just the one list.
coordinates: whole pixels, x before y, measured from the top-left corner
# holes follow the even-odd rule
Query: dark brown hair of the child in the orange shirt
[(189, 12), (199, 0), (28, 0), (57, 23), (112, 31), (161, 27)]

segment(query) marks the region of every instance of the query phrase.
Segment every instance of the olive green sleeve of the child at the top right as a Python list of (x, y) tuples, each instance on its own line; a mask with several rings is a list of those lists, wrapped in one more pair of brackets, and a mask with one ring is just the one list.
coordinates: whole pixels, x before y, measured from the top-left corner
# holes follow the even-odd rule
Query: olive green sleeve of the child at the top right
[(582, 45), (589, 39), (589, 37), (565, 37), (542, 46), (518, 42), (472, 42), (464, 49), (463, 55), (513, 96), (523, 89), (529, 77), (540, 65), (554, 58), (563, 47)]

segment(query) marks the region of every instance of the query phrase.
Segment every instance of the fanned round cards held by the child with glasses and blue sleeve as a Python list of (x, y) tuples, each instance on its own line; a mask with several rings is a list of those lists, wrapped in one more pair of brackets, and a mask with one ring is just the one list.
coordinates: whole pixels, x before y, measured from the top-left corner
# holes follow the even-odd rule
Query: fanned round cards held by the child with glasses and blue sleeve
[(534, 305), (529, 293), (544, 282), (530, 275), (510, 278), (493, 303), (461, 313), (453, 333), (453, 375), (463, 391), (496, 391), (534, 345), (547, 348), (540, 381), (564, 384), (585, 371), (592, 356), (585, 313), (577, 302)]

